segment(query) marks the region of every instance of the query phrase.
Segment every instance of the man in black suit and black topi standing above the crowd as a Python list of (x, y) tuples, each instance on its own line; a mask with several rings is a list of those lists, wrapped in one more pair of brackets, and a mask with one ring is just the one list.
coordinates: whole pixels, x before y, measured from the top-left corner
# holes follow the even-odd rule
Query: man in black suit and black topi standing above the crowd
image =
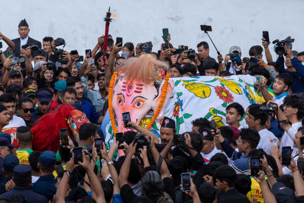
[[(30, 46), (36, 45), (39, 48), (41, 48), (41, 42), (36, 41), (28, 36), (29, 30), (30, 29), (28, 28), (28, 24), (27, 24), (26, 20), (25, 19), (21, 20), (18, 25), (18, 32), (19, 32), (20, 38), (12, 40), (15, 43), (14, 53), (15, 53), (16, 57), (20, 56), (20, 50), (23, 45), (26, 45), (26, 44), (30, 45)], [(7, 52), (7, 50), (5, 51), (5, 55), (7, 55), (6, 52)]]

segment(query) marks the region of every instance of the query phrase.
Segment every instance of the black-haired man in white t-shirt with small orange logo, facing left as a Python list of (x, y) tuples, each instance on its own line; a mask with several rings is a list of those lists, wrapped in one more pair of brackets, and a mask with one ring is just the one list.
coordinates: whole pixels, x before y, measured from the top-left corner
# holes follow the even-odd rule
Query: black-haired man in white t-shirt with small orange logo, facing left
[(248, 126), (257, 130), (260, 136), (256, 149), (263, 149), (267, 154), (270, 153), (271, 146), (277, 146), (278, 138), (266, 128), (269, 119), (267, 111), (261, 109), (261, 105), (252, 105), (248, 110)]

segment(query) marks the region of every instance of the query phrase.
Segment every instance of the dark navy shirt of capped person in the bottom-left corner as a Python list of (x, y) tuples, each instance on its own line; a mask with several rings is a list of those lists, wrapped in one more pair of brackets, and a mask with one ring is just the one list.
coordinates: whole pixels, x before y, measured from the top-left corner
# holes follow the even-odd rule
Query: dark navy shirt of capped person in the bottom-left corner
[(0, 199), (9, 199), (13, 195), (23, 195), (27, 202), (48, 203), (44, 195), (30, 190), (29, 187), (15, 186), (13, 190), (0, 195)]

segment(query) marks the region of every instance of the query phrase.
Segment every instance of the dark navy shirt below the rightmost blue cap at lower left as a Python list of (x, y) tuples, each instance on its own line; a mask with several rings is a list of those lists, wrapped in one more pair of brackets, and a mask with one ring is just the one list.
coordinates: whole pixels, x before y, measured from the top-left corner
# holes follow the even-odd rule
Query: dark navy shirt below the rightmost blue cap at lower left
[(33, 183), (32, 191), (43, 194), (48, 200), (52, 201), (57, 190), (55, 186), (56, 183), (57, 180), (53, 174), (41, 176), (36, 182)]

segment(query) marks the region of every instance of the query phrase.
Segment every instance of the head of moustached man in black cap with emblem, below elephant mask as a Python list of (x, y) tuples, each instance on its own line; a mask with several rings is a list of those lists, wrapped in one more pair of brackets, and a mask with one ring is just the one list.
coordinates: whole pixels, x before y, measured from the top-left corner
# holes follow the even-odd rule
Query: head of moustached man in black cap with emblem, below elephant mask
[(172, 138), (172, 136), (174, 136), (175, 131), (176, 131), (175, 121), (165, 116), (163, 118), (161, 130), (160, 130), (161, 143), (167, 145), (170, 139)]

